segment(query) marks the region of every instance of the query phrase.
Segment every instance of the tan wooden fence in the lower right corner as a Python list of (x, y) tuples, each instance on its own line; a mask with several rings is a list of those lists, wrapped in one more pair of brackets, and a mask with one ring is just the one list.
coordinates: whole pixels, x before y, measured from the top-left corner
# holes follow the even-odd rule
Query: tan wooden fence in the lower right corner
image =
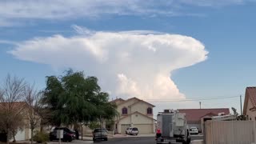
[(255, 126), (254, 121), (206, 121), (205, 143), (252, 144), (256, 140)]

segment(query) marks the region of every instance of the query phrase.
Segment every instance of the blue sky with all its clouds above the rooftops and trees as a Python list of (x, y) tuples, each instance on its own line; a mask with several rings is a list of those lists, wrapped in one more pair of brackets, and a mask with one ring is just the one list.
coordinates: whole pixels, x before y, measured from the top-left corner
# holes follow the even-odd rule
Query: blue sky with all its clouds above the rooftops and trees
[(114, 98), (231, 108), (256, 86), (255, 0), (1, 0), (0, 79), (84, 71)]

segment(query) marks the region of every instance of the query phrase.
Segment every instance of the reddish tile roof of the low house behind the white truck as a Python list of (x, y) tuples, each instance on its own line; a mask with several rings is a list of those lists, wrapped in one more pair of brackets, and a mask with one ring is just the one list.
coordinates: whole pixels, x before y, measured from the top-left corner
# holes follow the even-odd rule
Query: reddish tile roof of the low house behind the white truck
[(200, 122), (201, 118), (206, 115), (218, 115), (219, 113), (230, 114), (230, 109), (219, 108), (219, 109), (180, 109), (181, 113), (186, 113), (186, 121), (188, 123)]

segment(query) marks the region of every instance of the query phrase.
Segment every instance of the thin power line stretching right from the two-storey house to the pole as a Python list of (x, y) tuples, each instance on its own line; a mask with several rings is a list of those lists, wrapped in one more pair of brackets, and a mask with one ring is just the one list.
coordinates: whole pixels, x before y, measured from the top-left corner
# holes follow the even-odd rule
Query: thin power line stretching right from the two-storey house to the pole
[(212, 97), (212, 98), (193, 98), (193, 99), (144, 99), (147, 102), (190, 102), (190, 101), (207, 101), (213, 99), (238, 98), (240, 96), (230, 97)]

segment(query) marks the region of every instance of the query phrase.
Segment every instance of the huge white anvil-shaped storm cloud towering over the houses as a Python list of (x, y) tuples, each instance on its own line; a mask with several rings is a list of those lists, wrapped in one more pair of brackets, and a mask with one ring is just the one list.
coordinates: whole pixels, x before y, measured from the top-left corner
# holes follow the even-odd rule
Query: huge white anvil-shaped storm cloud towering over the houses
[(84, 70), (97, 76), (102, 89), (114, 98), (143, 99), (185, 98), (170, 74), (205, 61), (208, 54), (201, 42), (178, 34), (141, 30), (85, 33), (30, 39), (18, 43), (10, 54), (54, 68)]

